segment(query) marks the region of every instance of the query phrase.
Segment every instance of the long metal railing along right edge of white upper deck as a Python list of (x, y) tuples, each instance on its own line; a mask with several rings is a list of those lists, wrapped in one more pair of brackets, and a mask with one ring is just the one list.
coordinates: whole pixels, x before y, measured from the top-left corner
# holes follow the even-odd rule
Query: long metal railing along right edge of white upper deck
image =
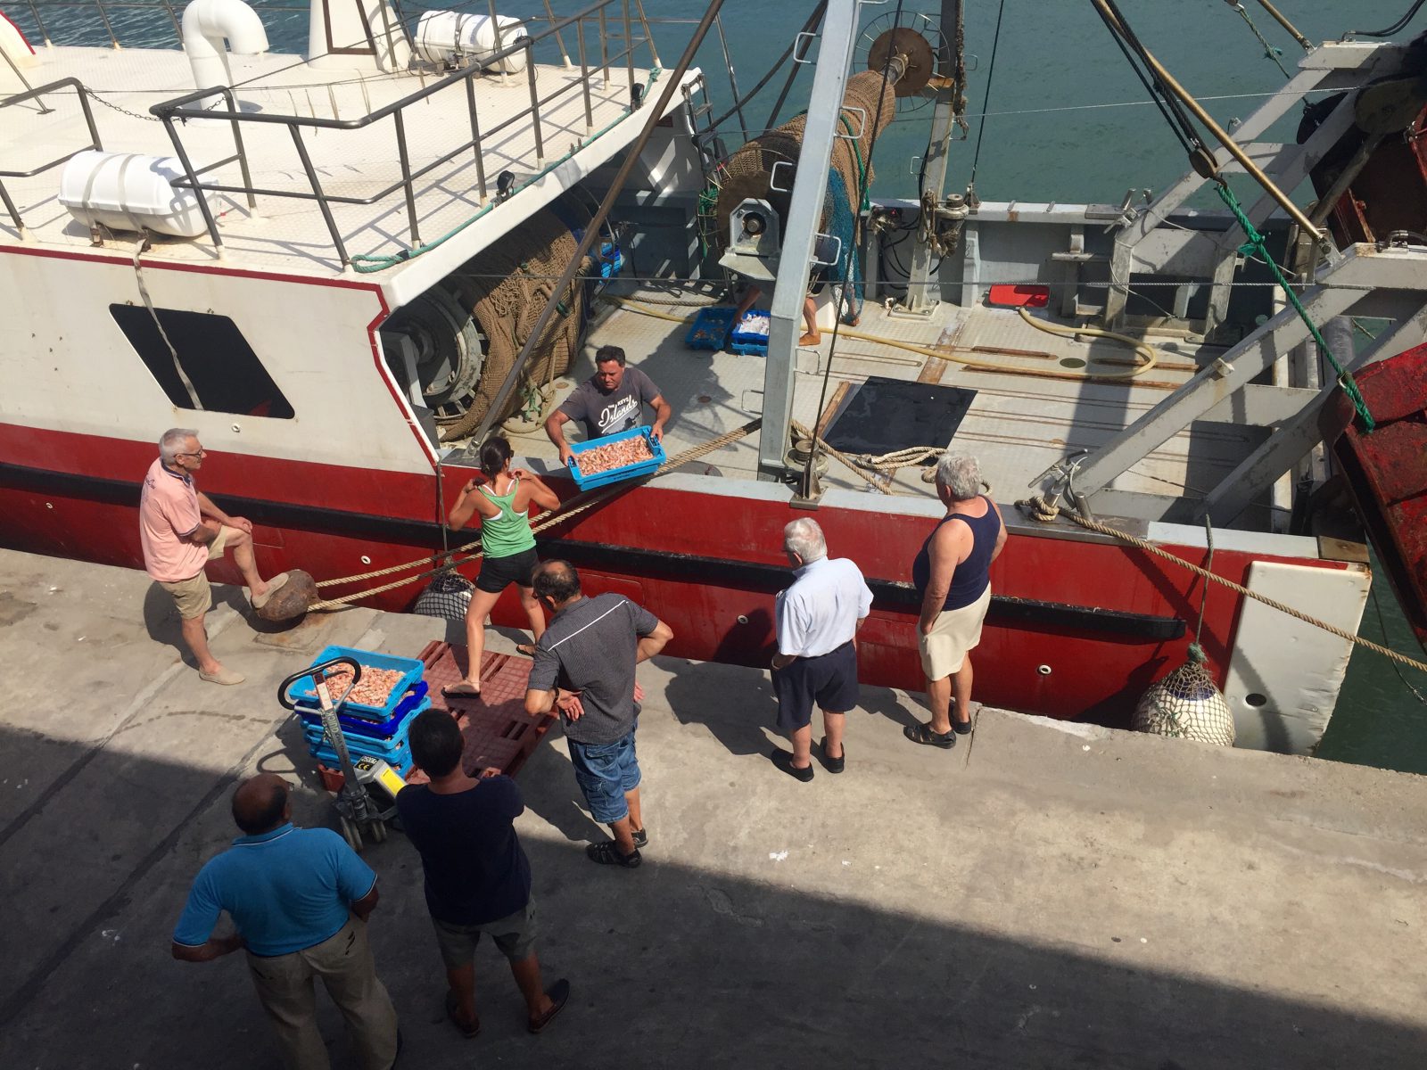
[[(611, 7), (611, 4), (616, 3), (621, 4), (622, 9), (622, 14), (616, 20), (616, 23), (622, 29), (622, 41), (618, 41), (618, 39), (616, 41), (622, 43), (624, 47), (622, 50), (611, 53), (609, 23), (612, 20), (608, 17), (608, 9)], [(528, 121), (535, 141), (537, 175), (532, 177), (539, 177), (547, 170), (545, 137), (541, 127), (542, 107), (565, 97), (571, 91), (579, 91), (584, 97), (585, 137), (588, 138), (594, 136), (595, 130), (594, 130), (594, 103), (591, 97), (591, 78), (596, 71), (599, 71), (602, 73), (604, 84), (608, 86), (611, 67), (616, 67), (621, 61), (625, 63), (628, 71), (629, 94), (631, 94), (629, 111), (632, 111), (639, 106), (644, 86), (635, 81), (635, 64), (634, 64), (635, 50), (641, 44), (648, 47), (651, 66), (655, 67), (658, 66), (658, 56), (655, 53), (652, 39), (648, 33), (648, 20), (644, 17), (642, 0), (632, 0), (632, 6), (638, 11), (636, 16), (631, 10), (631, 0), (598, 0), (596, 3), (591, 4), (589, 7), (584, 9), (577, 14), (559, 20), (555, 20), (552, 17), (549, 29), (542, 30), (538, 34), (522, 37), (514, 44), (501, 47), (499, 21), (495, 20), (495, 3), (494, 0), (491, 0), (488, 7), (492, 19), (491, 24), (495, 29), (495, 44), (497, 44), (497, 50), (491, 56), (485, 57), (485, 60), (482, 60), (482, 63), (479, 64), (471, 64), (458, 68), (438, 78), (437, 81), (425, 84), (415, 93), (410, 93), (401, 97), (400, 100), (385, 104), (384, 107), (368, 111), (365, 116), (361, 116), (358, 118), (347, 118), (347, 120), (318, 118), (315, 116), (295, 116), (295, 114), (283, 116), (265, 111), (258, 111), (258, 113), (240, 111), (237, 108), (237, 101), (233, 96), (233, 91), (221, 86), (195, 90), (181, 97), (176, 97), (173, 100), (166, 100), (160, 104), (154, 104), (150, 108), (150, 113), (164, 124), (164, 128), (168, 133), (168, 138), (174, 147), (174, 156), (177, 156), (178, 161), (183, 164), (186, 178), (177, 180), (176, 185), (184, 185), (200, 193), (197, 198), (198, 207), (203, 213), (204, 223), (207, 224), (208, 238), (213, 241), (215, 248), (218, 250), (223, 248), (223, 237), (218, 233), (213, 210), (203, 194), (208, 193), (244, 194), (247, 195), (250, 205), (255, 205), (257, 197), (284, 197), (295, 200), (310, 200), (317, 203), (318, 210), (323, 214), (323, 220), (327, 225), (332, 248), (337, 251), (337, 255), (342, 267), (345, 268), (352, 263), (352, 257), (348, 254), (341, 231), (337, 227), (337, 221), (332, 215), (332, 205), (372, 205), (392, 197), (400, 191), (405, 201), (407, 230), (410, 234), (410, 245), (401, 255), (411, 255), (415, 250), (418, 250), (422, 245), (420, 223), (417, 218), (418, 214), (417, 214), (415, 184), (431, 171), (437, 170), (438, 167), (442, 167), (444, 164), (450, 163), (462, 153), (471, 151), (474, 154), (474, 163), (475, 163), (475, 173), (477, 173), (475, 177), (479, 194), (479, 205), (485, 208), (485, 205), (489, 203), (489, 190), (487, 184), (485, 164), (482, 160), (482, 141), (488, 141), (495, 134), (501, 133), (502, 130), (507, 130), (508, 127), (515, 126), (517, 123)], [(586, 34), (588, 34), (586, 23), (591, 21), (596, 24), (599, 34), (598, 64), (594, 66), (591, 63), (592, 58), (591, 47), (588, 47), (586, 43)], [(636, 21), (641, 24), (644, 30), (642, 37), (634, 36), (634, 26)], [(537, 64), (534, 54), (535, 47), (547, 40), (554, 40), (559, 47), (561, 54), (565, 57), (565, 61), (569, 63), (564, 40), (561, 39), (561, 31), (569, 29), (574, 29), (577, 36), (579, 80), (565, 83), (559, 88), (545, 96), (541, 96), (537, 86)], [(529, 106), (521, 108), (518, 113), (509, 116), (497, 126), (482, 131), (475, 103), (475, 78), (488, 74), (492, 68), (501, 78), (518, 77), (505, 73), (504, 68), (507, 58), (518, 56), (521, 53), (524, 53), (525, 58), (525, 78), (529, 87)], [(574, 64), (571, 63), (571, 67)], [(462, 140), (454, 148), (442, 153), (437, 158), (430, 160), (428, 163), (412, 168), (411, 151), (405, 128), (405, 111), (412, 106), (430, 101), (437, 94), (445, 93), (447, 90), (451, 90), (454, 87), (464, 87), (465, 90), (465, 111), (469, 117), (469, 128), (471, 128), (469, 138)], [(197, 107), (197, 101), (203, 100), (204, 97), (214, 97), (214, 96), (224, 97), (224, 104), (227, 108), (225, 111), (204, 110), (201, 107)], [(313, 131), (364, 130), (387, 118), (392, 120), (395, 131), (395, 147), (401, 167), (401, 177), (397, 181), (385, 185), (380, 191), (367, 197), (335, 195), (324, 191), (321, 180), (317, 174), (317, 168), (313, 165), (307, 141), (303, 137), (304, 128)], [(233, 138), (235, 150), (234, 154), (224, 157), (223, 160), (204, 164), (203, 167), (194, 167), (193, 158), (190, 157), (187, 148), (184, 147), (183, 136), (178, 128), (178, 124), (190, 121), (228, 121), (233, 126)], [(241, 127), (245, 123), (275, 124), (287, 127), (293, 138), (293, 147), (303, 165), (303, 173), (307, 177), (310, 190), (271, 190), (271, 188), (258, 188), (253, 185), (248, 173), (247, 153), (244, 151), (243, 137), (241, 137)], [(238, 163), (243, 171), (241, 185), (221, 184), (203, 180), (204, 174), (211, 173), (234, 161)]]

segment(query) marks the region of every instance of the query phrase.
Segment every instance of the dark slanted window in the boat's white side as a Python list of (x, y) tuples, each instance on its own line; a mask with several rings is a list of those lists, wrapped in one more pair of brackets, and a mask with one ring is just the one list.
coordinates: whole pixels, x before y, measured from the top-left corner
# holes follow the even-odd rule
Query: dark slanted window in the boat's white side
[[(178, 408), (273, 419), (293, 418), (293, 407), (273, 382), (238, 325), (228, 317), (156, 308), (154, 314), (163, 325), (160, 334), (154, 317), (143, 305), (114, 304), (108, 311), (164, 394)], [(177, 358), (164, 342), (164, 335), (168, 335)]]

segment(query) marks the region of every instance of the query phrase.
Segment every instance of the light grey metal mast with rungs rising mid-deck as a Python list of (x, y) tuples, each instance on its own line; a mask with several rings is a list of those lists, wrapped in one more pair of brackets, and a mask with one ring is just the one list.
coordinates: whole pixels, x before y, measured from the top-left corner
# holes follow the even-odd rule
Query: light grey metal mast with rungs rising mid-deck
[[(758, 441), (758, 478), (782, 481), (788, 474), (783, 455), (793, 411), (793, 364), (802, 334), (803, 297), (812, 274), (813, 241), (822, 224), (822, 204), (828, 193), (828, 168), (832, 143), (838, 136), (838, 117), (848, 87), (852, 49), (858, 40), (858, 0), (828, 0), (818, 44), (818, 64), (808, 100), (808, 124), (803, 127), (793, 193), (788, 207), (769, 305), (768, 357), (763, 364), (763, 428)], [(806, 60), (795, 61), (806, 63)]]

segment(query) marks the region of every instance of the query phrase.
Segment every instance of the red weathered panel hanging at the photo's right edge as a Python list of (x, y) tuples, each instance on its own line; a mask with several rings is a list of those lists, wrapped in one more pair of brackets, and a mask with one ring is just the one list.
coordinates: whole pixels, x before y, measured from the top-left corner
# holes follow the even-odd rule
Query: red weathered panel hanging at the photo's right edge
[(1319, 418), (1368, 539), (1427, 649), (1427, 345), (1370, 364), (1357, 387), (1373, 431), (1341, 387)]

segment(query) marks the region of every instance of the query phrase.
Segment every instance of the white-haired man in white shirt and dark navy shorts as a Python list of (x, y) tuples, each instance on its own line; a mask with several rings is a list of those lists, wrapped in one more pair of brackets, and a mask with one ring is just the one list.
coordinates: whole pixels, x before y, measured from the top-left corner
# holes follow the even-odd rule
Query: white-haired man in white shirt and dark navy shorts
[(858, 629), (872, 609), (872, 591), (848, 558), (828, 559), (816, 521), (799, 518), (783, 528), (783, 552), (793, 566), (792, 586), (778, 593), (773, 695), (778, 728), (793, 752), (775, 750), (773, 765), (812, 780), (812, 708), (822, 709), (822, 759), (829, 773), (846, 768), (843, 715), (858, 705)]

